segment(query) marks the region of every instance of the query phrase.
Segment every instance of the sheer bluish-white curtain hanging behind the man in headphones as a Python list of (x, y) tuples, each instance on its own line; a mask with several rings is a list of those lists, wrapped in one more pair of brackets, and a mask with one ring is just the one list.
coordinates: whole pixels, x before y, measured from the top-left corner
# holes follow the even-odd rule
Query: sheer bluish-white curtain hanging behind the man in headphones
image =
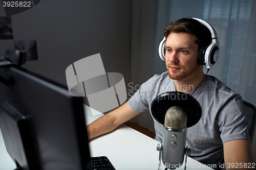
[[(158, 15), (161, 25), (182, 17), (197, 17), (214, 27), (220, 41), (220, 57), (209, 75), (240, 93), (243, 100), (256, 105), (255, 0), (159, 1)], [(163, 21), (163, 15), (169, 18)], [(165, 71), (158, 63), (155, 67), (158, 74)]]

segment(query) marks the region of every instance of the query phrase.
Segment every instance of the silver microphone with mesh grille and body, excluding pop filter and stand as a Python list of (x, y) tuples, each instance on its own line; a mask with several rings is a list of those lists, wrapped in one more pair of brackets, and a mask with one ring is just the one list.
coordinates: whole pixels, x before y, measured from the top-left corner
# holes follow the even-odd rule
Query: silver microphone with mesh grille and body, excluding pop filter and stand
[(178, 107), (169, 108), (163, 126), (162, 161), (169, 169), (183, 164), (187, 133), (187, 114)]

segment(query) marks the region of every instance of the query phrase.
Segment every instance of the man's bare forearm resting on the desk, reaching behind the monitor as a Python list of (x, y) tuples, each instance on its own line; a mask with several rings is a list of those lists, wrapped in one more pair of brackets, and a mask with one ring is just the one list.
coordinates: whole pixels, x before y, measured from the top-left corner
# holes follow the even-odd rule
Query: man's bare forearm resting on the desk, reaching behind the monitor
[(116, 129), (119, 125), (137, 116), (139, 112), (134, 111), (128, 102), (119, 108), (109, 112), (87, 126), (88, 138), (92, 139), (99, 135)]

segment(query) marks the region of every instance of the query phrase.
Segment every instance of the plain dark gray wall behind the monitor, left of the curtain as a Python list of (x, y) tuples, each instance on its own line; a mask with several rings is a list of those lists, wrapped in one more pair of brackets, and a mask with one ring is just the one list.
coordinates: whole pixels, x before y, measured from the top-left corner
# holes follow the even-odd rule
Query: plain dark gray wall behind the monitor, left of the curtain
[[(1, 3), (2, 4), (2, 3)], [(0, 6), (0, 16), (6, 16)], [(106, 72), (130, 81), (130, 1), (43, 0), (11, 16), (14, 40), (35, 39), (38, 60), (24, 67), (66, 85), (66, 68), (101, 54)], [(0, 56), (13, 40), (0, 40)]]

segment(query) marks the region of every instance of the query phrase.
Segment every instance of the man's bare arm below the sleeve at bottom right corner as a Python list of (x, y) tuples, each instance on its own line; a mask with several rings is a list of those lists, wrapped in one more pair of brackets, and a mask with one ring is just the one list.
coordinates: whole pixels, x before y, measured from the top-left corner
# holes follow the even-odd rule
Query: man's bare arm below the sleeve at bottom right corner
[(226, 169), (251, 169), (253, 167), (249, 139), (231, 140), (223, 143)]

